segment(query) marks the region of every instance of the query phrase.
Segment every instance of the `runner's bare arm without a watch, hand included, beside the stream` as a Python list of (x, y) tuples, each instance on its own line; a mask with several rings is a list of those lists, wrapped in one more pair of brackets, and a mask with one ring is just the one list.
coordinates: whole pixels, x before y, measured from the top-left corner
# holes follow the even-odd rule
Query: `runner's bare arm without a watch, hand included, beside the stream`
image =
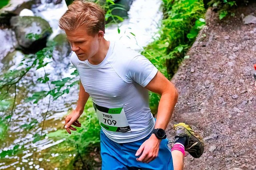
[(82, 82), (80, 81), (80, 89), (76, 109), (72, 111), (72, 113), (70, 113), (65, 119), (65, 128), (69, 134), (71, 134), (70, 130), (76, 130), (76, 128), (72, 127), (71, 125), (81, 127), (81, 123), (78, 121), (78, 118), (82, 115), (84, 106), (89, 97), (90, 95), (84, 90)]

